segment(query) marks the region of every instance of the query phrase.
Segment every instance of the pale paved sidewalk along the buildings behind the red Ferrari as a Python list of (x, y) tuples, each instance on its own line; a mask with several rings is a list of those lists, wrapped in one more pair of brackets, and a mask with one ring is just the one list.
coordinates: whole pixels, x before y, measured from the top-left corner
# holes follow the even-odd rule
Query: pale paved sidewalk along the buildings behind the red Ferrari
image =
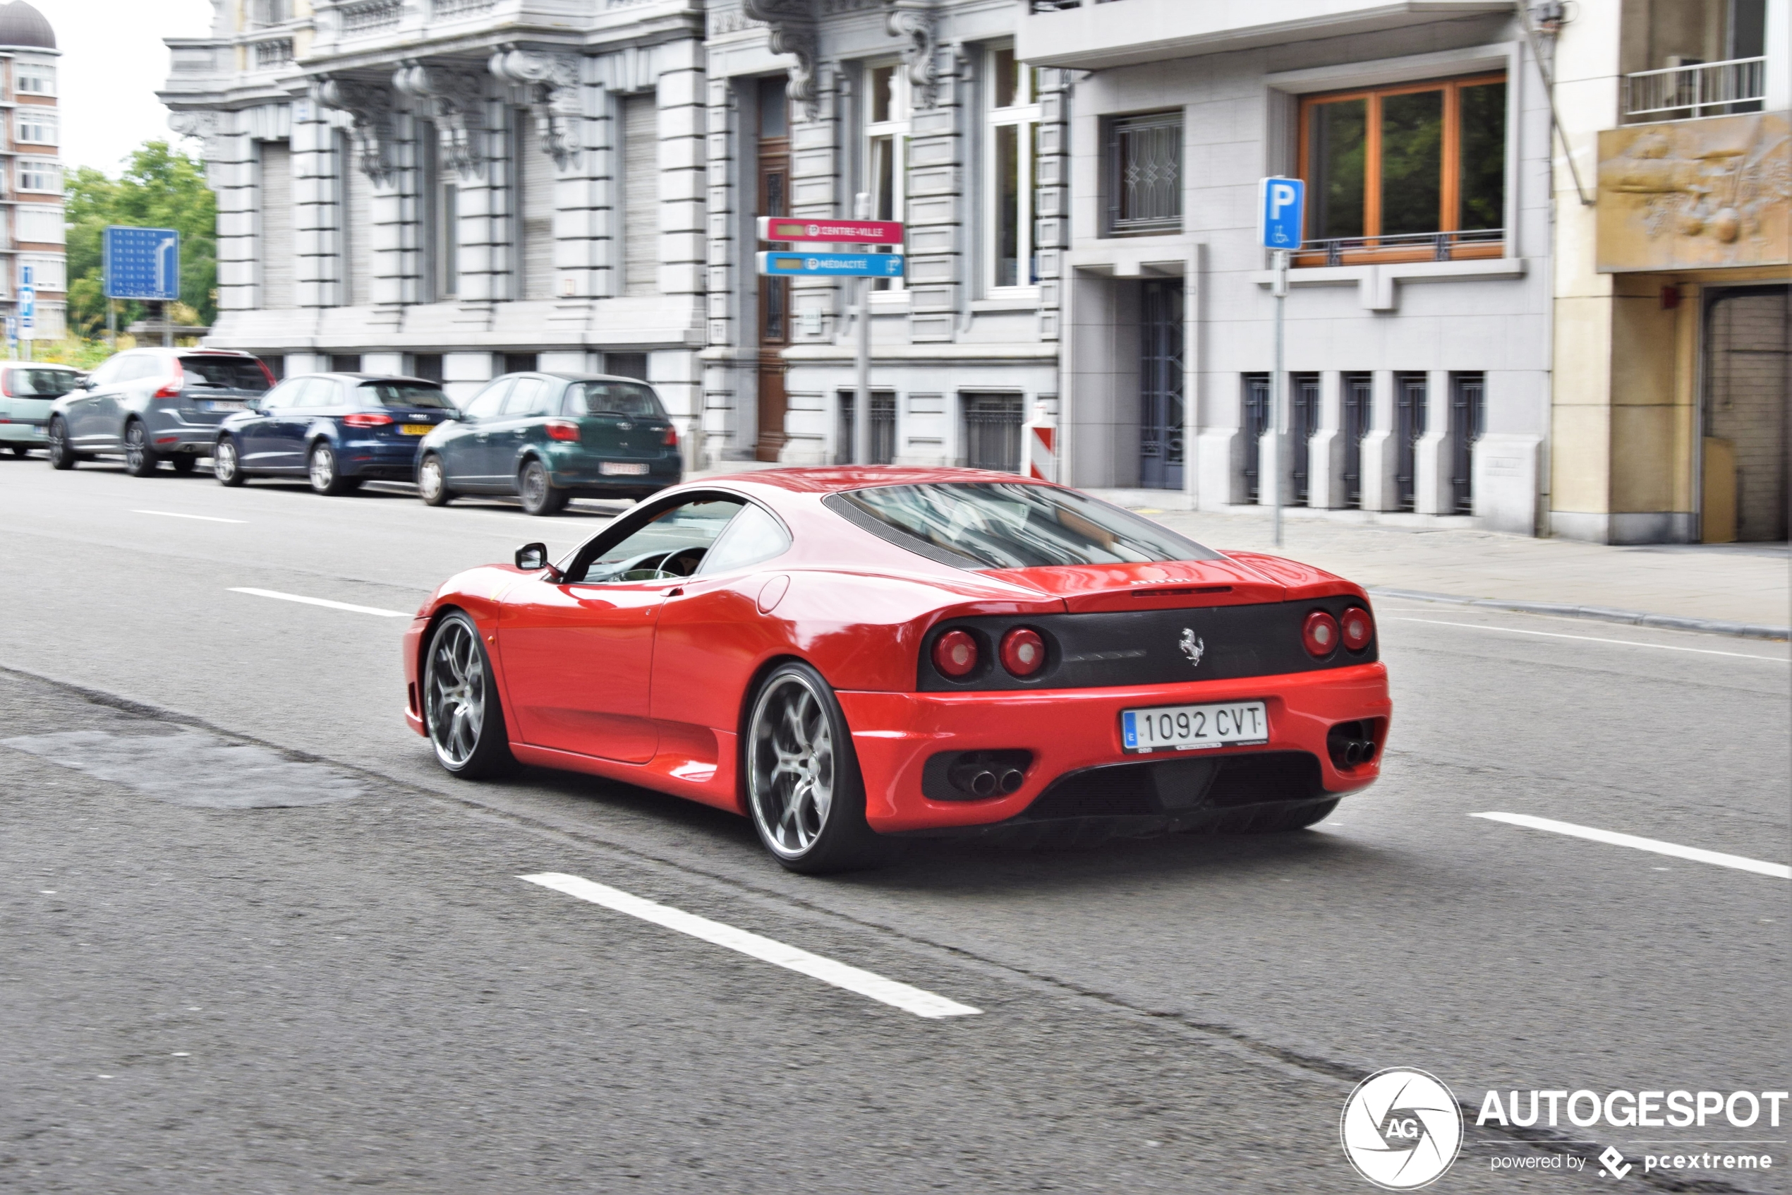
[[(690, 477), (756, 468), (774, 466), (728, 462)], [(1145, 491), (1095, 493), (1211, 548), (1279, 552), (1378, 597), (1487, 602), (1751, 638), (1787, 638), (1792, 623), (1792, 554), (1783, 543), (1615, 548), (1468, 527), (1351, 523), (1297, 511), (1283, 520), (1283, 545), (1276, 548), (1269, 511), (1172, 511), (1145, 505)]]

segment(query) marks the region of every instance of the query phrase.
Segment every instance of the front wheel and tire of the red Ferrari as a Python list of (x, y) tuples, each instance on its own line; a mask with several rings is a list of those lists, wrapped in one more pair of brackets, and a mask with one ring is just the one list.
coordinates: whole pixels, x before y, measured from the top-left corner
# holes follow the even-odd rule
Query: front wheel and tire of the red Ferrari
[(504, 704), (478, 625), (453, 611), (435, 623), (423, 656), (423, 729), (453, 776), (487, 779), (516, 767)]

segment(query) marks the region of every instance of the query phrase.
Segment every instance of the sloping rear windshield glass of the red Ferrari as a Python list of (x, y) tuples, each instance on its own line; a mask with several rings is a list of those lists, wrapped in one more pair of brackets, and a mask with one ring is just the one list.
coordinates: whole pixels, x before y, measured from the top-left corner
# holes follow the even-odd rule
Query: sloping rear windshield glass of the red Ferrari
[(858, 489), (839, 498), (896, 532), (889, 539), (948, 552), (964, 568), (1219, 559), (1120, 507), (1048, 486), (939, 482)]

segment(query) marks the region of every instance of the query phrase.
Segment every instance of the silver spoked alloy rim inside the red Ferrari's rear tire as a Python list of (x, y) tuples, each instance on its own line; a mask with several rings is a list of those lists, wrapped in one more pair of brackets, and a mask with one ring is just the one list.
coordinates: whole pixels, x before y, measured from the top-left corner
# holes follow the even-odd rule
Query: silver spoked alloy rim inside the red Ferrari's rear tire
[(753, 817), (781, 856), (805, 855), (833, 808), (833, 727), (821, 695), (797, 674), (778, 675), (753, 708), (747, 745)]

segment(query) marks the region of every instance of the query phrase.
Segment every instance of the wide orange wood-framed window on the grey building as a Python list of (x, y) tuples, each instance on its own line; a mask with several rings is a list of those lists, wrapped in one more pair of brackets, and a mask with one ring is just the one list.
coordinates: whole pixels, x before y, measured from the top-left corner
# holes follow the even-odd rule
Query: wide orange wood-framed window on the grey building
[(1505, 75), (1301, 100), (1308, 249), (1296, 265), (1503, 251)]

